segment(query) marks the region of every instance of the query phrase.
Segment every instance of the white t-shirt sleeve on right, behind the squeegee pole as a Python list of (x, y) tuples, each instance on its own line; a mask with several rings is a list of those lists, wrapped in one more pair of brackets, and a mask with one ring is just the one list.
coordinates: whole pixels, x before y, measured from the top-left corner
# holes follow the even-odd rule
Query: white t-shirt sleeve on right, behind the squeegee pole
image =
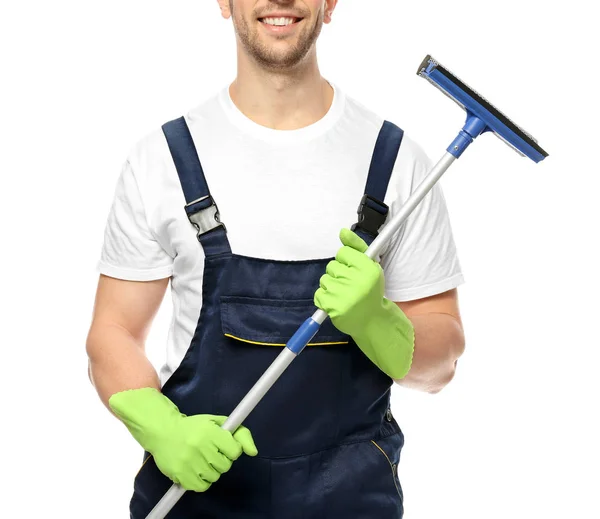
[[(404, 137), (386, 195), (393, 218), (433, 167), (420, 146)], [(438, 181), (384, 248), (386, 297), (411, 301), (464, 283), (442, 186)]]

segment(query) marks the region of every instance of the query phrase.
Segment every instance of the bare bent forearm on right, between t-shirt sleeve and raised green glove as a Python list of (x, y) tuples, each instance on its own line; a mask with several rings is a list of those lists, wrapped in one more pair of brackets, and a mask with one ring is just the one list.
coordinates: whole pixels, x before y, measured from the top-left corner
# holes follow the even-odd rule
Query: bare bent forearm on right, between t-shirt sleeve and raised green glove
[(464, 351), (462, 326), (448, 314), (410, 317), (415, 329), (415, 350), (408, 374), (396, 382), (402, 386), (437, 393), (454, 377), (456, 362)]

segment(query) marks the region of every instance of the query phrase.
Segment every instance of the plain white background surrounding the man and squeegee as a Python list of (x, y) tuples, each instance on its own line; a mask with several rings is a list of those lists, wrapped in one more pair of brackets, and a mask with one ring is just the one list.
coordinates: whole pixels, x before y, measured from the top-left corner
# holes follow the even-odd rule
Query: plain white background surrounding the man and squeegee
[[(600, 517), (592, 5), (341, 0), (319, 40), (323, 75), (435, 160), (464, 114), (426, 54), (550, 154), (486, 134), (441, 180), (467, 349), (440, 394), (394, 389), (407, 519)], [(216, 0), (7, 2), (0, 49), (1, 515), (128, 517), (141, 449), (86, 373), (95, 264), (129, 148), (233, 79), (231, 23)], [(169, 319), (167, 296), (157, 365)]]

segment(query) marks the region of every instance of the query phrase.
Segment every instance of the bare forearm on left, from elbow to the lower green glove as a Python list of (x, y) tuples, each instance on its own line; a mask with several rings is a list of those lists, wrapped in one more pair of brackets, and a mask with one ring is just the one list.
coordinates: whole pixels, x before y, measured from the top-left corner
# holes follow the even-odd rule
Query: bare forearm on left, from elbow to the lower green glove
[(86, 349), (90, 380), (107, 408), (110, 396), (119, 391), (141, 387), (160, 389), (158, 375), (143, 345), (124, 328), (95, 324), (88, 335)]

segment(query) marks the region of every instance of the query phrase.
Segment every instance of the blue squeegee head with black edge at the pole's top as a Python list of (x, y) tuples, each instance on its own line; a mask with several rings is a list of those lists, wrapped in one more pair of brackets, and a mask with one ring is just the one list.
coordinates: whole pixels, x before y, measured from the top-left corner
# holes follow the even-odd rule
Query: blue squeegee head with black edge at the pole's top
[[(463, 83), (430, 55), (427, 55), (419, 65), (417, 74), (427, 79), (466, 110), (467, 122), (469, 123), (469, 119), (471, 119), (470, 126), (479, 128), (479, 133), (472, 135), (472, 138), (477, 137), (480, 133), (491, 131), (517, 153), (529, 157), (534, 162), (540, 162), (548, 156), (548, 153), (529, 133), (519, 128), (487, 99)], [(473, 120), (477, 124), (473, 125)], [(481, 128), (484, 128), (483, 131)], [(468, 131), (468, 126), (465, 126), (465, 130)]]

